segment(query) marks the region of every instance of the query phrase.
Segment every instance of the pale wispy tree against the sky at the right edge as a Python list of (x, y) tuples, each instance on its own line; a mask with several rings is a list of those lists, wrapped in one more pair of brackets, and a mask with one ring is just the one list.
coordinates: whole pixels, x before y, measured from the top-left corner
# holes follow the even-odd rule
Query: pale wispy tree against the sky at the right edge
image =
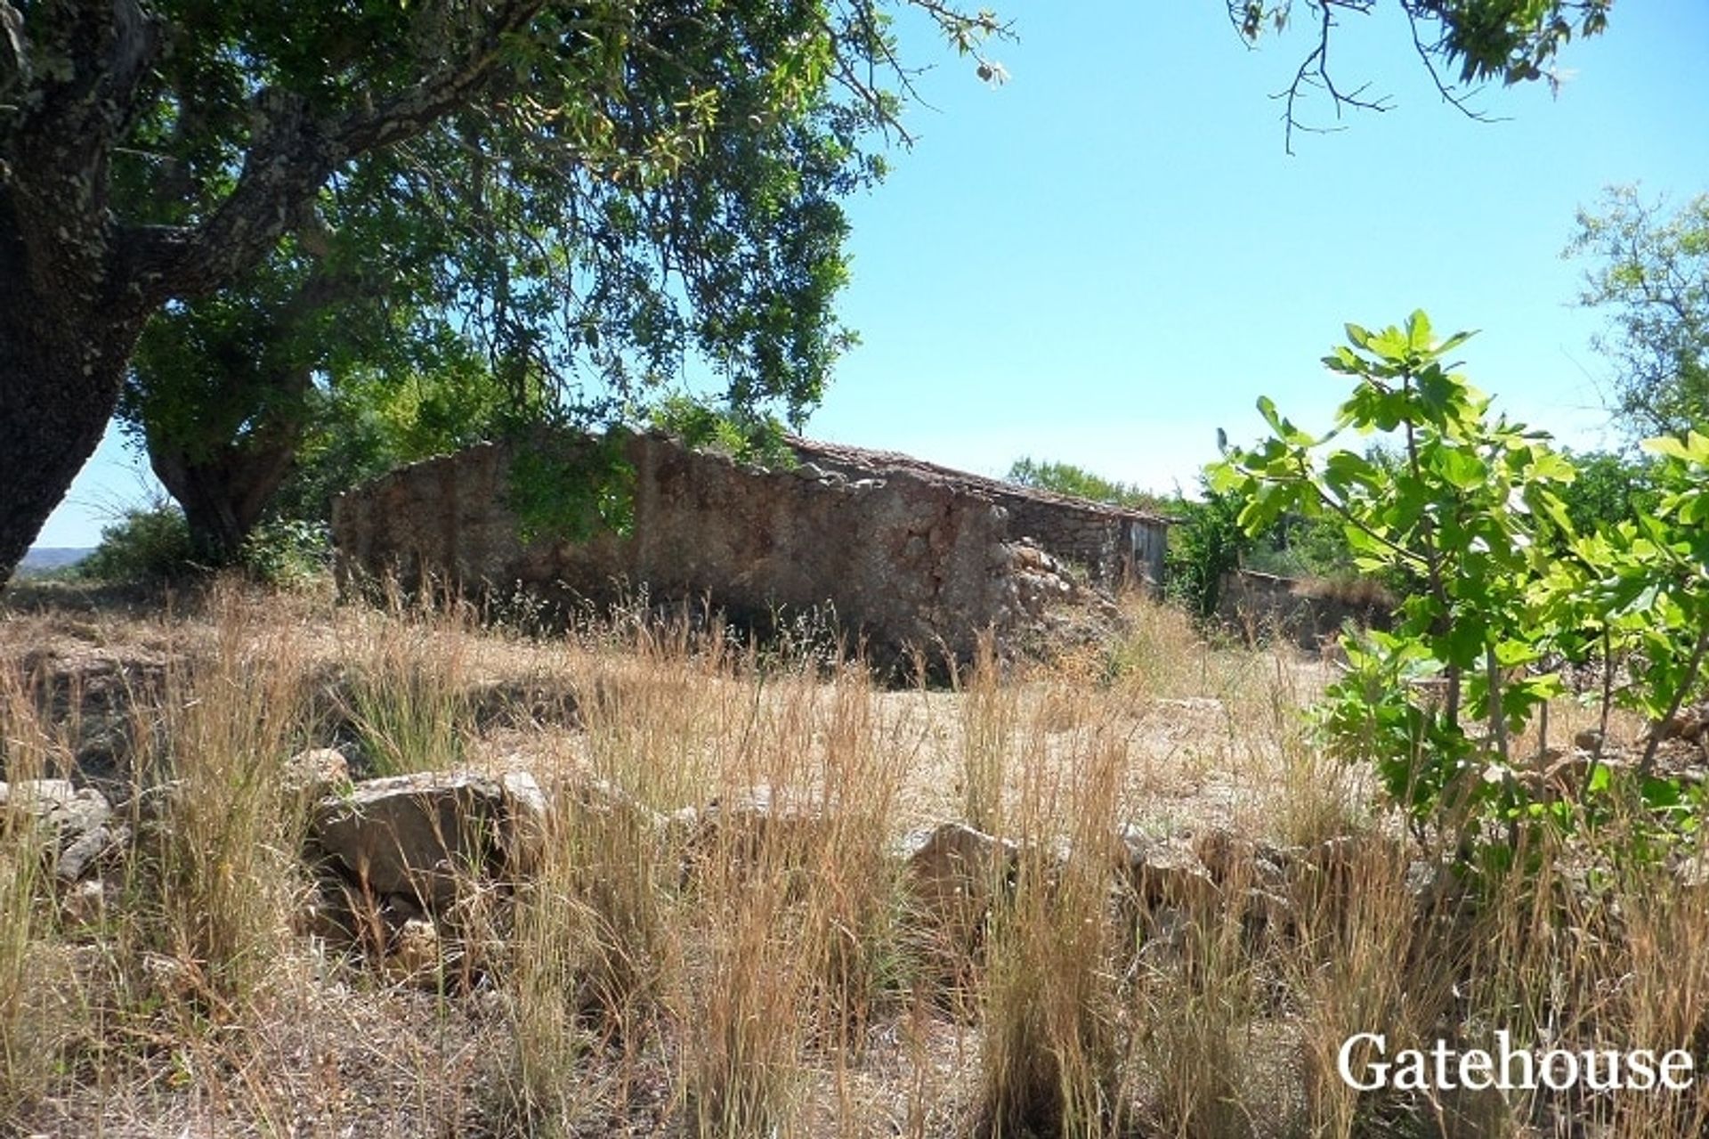
[(1608, 311), (1596, 347), (1617, 368), (1613, 410), (1632, 438), (1709, 422), (1709, 193), (1678, 212), (1636, 186), (1579, 210), (1569, 257), (1593, 260), (1579, 303)]

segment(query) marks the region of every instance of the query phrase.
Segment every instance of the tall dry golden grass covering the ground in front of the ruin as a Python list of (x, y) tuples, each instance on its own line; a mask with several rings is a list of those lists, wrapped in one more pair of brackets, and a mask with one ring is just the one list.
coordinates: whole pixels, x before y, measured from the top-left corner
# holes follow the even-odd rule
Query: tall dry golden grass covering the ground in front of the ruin
[[(174, 614), (0, 612), (14, 782), (113, 727), (84, 722), (79, 676), (166, 662), (101, 711), (132, 741), (113, 787), (133, 836), (94, 912), (53, 879), (51, 836), (0, 809), (0, 1130), (1702, 1132), (1695, 1091), (1347, 1088), (1355, 1031), (1702, 1055), (1709, 906), (1583, 848), (1429, 888), (1357, 773), (1301, 734), (1321, 662), (1133, 605), (1121, 645), (1024, 674), (984, 655), (952, 691), (882, 691), (714, 623), (533, 638), (236, 588)], [(282, 773), (328, 742), (371, 770), (533, 771), (555, 788), (542, 865), (470, 882), (410, 973), (304, 932)], [(945, 819), (1019, 845), (971, 947), (923, 932), (890, 853)], [(1203, 876), (1147, 893), (1116, 872), (1123, 826), (1196, 850)]]

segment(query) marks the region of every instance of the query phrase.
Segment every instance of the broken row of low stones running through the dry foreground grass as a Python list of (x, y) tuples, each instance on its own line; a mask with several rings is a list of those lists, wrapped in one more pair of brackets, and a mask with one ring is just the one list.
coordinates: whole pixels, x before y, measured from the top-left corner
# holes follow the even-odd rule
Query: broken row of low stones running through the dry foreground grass
[[(822, 865), (815, 859), (846, 835), (837, 829), (846, 819), (836, 804), (762, 785), (665, 814), (591, 776), (550, 788), (526, 771), (352, 782), (338, 751), (316, 749), (289, 761), (285, 787), (306, 804), (304, 857), (320, 882), (299, 932), (355, 944), (395, 977), (434, 975), (461, 934), (470, 901), (502, 903), (540, 869), (554, 814), (569, 812), (578, 828), (617, 826), (631, 840), (653, 843), (661, 859), (680, 860), (684, 882), (731, 869), (788, 874)], [(150, 804), (159, 814), (174, 788), (156, 792), (138, 799), (135, 817), (149, 814)], [(130, 836), (108, 800), (67, 780), (0, 783), (0, 819), (9, 812), (41, 826), (44, 860), (62, 882), (68, 920), (99, 917), (97, 864)], [(1290, 898), (1302, 888), (1343, 894), (1357, 886), (1352, 869), (1374, 853), (1360, 843), (1393, 845), (1359, 836), (1277, 847), (1219, 829), (1152, 833), (1128, 824), (1101, 845), (1092, 864), (1078, 865), (1107, 867), (1097, 872), (1107, 872), (1111, 912), (1142, 951), (1169, 954), (1207, 913), (1285, 934), (1294, 929)], [(1029, 848), (964, 823), (916, 829), (887, 847), (916, 944), (948, 968), (979, 951), (993, 906), (1024, 872), (1056, 882), (1072, 857), (1066, 845)], [(1417, 865), (1408, 882), (1422, 905), (1441, 874)]]

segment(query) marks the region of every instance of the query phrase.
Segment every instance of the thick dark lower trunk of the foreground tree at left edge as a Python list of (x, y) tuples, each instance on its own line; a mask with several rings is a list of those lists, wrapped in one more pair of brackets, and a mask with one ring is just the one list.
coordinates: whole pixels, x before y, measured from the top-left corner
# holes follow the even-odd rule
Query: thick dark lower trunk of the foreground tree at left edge
[(113, 417), (142, 320), (31, 262), (0, 186), (0, 588)]

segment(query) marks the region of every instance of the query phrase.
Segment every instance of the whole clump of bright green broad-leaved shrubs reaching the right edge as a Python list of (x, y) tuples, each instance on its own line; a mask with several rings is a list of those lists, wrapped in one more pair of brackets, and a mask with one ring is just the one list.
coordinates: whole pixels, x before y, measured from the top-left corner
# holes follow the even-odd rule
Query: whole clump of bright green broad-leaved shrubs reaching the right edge
[[(1241, 503), (1248, 534), (1289, 511), (1333, 518), (1362, 568), (1418, 583), (1393, 633), (1342, 638), (1348, 669), (1318, 705), (1328, 749), (1372, 764), (1418, 835), (1434, 828), (1487, 865), (1540, 828), (1600, 826), (1617, 794), (1642, 804), (1632, 853), (1695, 841), (1704, 792), (1654, 771), (1659, 732), (1637, 764), (1593, 766), (1569, 795), (1533, 775), (1548, 754), (1548, 701), (1565, 691), (1562, 658), (1583, 664), (1600, 646), (1605, 723), (1615, 703), (1666, 723), (1704, 691), (1709, 436), (1646, 441), (1654, 477), (1636, 489), (1654, 508), (1634, 503), (1615, 465), (1606, 474), (1620, 477), (1581, 491), (1596, 530), (1577, 534), (1569, 496), (1581, 469), (1543, 433), (1492, 417), (1490, 397), (1449, 371), (1470, 333), (1437, 340), (1422, 311), (1347, 333), (1324, 363), (1354, 392), (1328, 433), (1302, 431), (1261, 397), (1273, 436), (1208, 470)], [(1328, 448), (1348, 429), (1398, 431), (1400, 462)], [(1617, 667), (1630, 684), (1613, 684)], [(1533, 723), (1536, 742), (1521, 742)]]

